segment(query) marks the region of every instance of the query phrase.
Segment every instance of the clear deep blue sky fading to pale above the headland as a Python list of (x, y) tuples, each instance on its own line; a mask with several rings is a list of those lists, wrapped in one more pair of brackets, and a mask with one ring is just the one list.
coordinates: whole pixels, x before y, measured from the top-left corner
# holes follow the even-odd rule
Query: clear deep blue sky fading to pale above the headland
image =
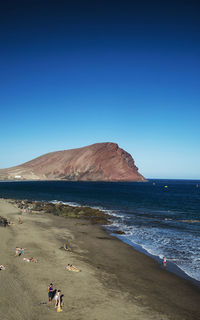
[(113, 141), (200, 179), (200, 2), (0, 2), (0, 168)]

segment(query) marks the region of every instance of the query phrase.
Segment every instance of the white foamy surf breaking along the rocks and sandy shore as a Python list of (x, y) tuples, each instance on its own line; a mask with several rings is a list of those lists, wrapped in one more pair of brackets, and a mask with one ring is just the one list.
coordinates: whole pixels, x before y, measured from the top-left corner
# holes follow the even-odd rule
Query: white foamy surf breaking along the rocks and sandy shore
[[(76, 202), (63, 202), (63, 201), (57, 201), (53, 200), (52, 203), (63, 203), (66, 205), (70, 205), (73, 207), (87, 207), (88, 205), (82, 205)], [(145, 226), (138, 226), (138, 225), (129, 225), (127, 224), (128, 221), (130, 221), (131, 217), (122, 214), (122, 212), (117, 210), (109, 210), (105, 209), (101, 206), (90, 206), (93, 209), (100, 210), (110, 216), (112, 216), (113, 219), (112, 224), (109, 225), (109, 230), (121, 230), (125, 234), (117, 236), (122, 241), (127, 242), (134, 246), (140, 246), (143, 250), (145, 250), (148, 254), (152, 256), (157, 256), (160, 259), (163, 259), (164, 256), (167, 257), (168, 261), (172, 261), (175, 263), (183, 272), (185, 272), (188, 276), (200, 281), (200, 270), (198, 270), (200, 258), (197, 256), (196, 250), (194, 250), (194, 247), (196, 248), (196, 245), (194, 246), (194, 239), (188, 239), (187, 237), (184, 240), (184, 236), (182, 233), (180, 233), (180, 236), (178, 236), (178, 233), (171, 234), (171, 232), (168, 229), (162, 229), (159, 231), (159, 228), (148, 228)], [(171, 218), (165, 218), (165, 221), (171, 221), (173, 219)], [(178, 232), (178, 231), (177, 231)], [(114, 234), (116, 236), (116, 234)], [(186, 244), (184, 244), (185, 242)], [(191, 244), (188, 246), (188, 243)], [(184, 259), (184, 257), (176, 257), (175, 254), (181, 254), (181, 250), (187, 251), (187, 259)], [(190, 257), (188, 259), (188, 257)]]

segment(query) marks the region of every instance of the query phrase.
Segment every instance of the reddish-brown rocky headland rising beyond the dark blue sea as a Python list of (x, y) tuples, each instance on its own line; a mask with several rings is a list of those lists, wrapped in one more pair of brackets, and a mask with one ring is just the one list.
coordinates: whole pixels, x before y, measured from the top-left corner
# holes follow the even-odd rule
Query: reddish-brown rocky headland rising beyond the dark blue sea
[(116, 143), (96, 143), (45, 154), (0, 169), (1, 180), (145, 181), (129, 153)]

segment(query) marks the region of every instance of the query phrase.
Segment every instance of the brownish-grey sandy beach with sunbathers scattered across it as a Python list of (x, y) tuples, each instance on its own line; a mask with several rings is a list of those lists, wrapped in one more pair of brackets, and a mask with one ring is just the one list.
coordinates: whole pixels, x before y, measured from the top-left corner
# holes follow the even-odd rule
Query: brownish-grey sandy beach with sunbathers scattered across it
[[(21, 216), (22, 224), (17, 223)], [(0, 199), (0, 318), (5, 320), (200, 319), (200, 290), (86, 219), (23, 213)], [(71, 252), (62, 247), (68, 243)], [(25, 248), (15, 256), (15, 247)], [(37, 263), (24, 262), (34, 257)], [(73, 264), (81, 272), (66, 271)], [(48, 303), (53, 283), (62, 312)]]

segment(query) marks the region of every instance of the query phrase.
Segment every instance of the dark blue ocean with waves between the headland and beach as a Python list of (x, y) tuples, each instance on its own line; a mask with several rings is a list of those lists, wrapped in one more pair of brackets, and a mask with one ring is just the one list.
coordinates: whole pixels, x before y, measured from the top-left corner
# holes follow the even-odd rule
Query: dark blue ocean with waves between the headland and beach
[(200, 180), (0, 182), (0, 197), (62, 201), (112, 216), (109, 231), (200, 281)]

